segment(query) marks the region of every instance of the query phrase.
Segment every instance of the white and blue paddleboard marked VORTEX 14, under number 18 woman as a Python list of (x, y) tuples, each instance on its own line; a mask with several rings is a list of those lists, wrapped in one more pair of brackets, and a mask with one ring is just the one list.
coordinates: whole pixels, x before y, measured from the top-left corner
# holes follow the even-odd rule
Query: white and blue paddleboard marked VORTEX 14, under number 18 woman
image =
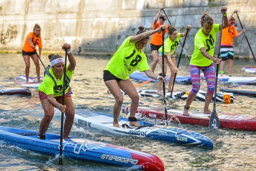
[(143, 121), (140, 123), (141, 127), (130, 127), (128, 118), (124, 117), (119, 117), (118, 122), (120, 128), (113, 127), (113, 115), (82, 109), (76, 110), (74, 119), (76, 124), (114, 134), (213, 148), (212, 141), (207, 136), (190, 130)]

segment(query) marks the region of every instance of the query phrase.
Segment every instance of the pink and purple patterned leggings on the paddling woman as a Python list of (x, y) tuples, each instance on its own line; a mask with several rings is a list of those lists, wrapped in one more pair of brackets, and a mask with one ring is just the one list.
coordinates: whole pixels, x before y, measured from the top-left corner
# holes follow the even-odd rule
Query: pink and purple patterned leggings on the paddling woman
[(207, 67), (198, 67), (195, 65), (189, 65), (190, 67), (190, 75), (192, 81), (192, 90), (193, 94), (197, 94), (200, 89), (200, 70), (204, 72), (204, 77), (207, 82), (207, 92), (210, 94), (214, 93), (215, 89), (215, 68), (213, 63)]

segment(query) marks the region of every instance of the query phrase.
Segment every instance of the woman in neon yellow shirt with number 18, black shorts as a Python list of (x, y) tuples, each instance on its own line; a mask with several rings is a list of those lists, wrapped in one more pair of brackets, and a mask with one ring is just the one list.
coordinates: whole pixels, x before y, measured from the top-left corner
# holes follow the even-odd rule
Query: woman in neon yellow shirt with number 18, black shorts
[(139, 95), (129, 79), (131, 73), (139, 69), (140, 72), (145, 72), (151, 79), (165, 82), (163, 77), (157, 76), (150, 70), (146, 55), (142, 51), (148, 42), (149, 36), (165, 28), (166, 26), (161, 25), (158, 29), (145, 31), (143, 27), (139, 27), (139, 32), (136, 35), (129, 36), (123, 41), (103, 70), (104, 83), (116, 100), (113, 108), (114, 127), (119, 127), (118, 117), (123, 104), (123, 95), (120, 89), (131, 98), (130, 117), (128, 118), (130, 126), (139, 126), (135, 118), (139, 105)]

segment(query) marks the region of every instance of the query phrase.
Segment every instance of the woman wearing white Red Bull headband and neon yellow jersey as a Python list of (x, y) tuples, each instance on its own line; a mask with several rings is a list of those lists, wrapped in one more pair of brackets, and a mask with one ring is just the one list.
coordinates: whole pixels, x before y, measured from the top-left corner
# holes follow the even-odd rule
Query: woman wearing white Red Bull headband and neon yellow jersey
[(69, 83), (74, 74), (76, 60), (70, 48), (69, 44), (64, 44), (62, 46), (63, 50), (67, 49), (67, 56), (69, 58), (69, 65), (66, 66), (67, 86), (65, 88), (64, 106), (62, 105), (63, 74), (65, 66), (64, 59), (58, 54), (50, 54), (48, 56), (51, 62), (51, 68), (46, 68), (44, 81), (38, 87), (39, 98), (44, 109), (44, 117), (40, 122), (39, 139), (45, 139), (45, 133), (54, 115), (53, 107), (58, 108), (61, 112), (65, 112), (66, 115), (63, 139), (69, 136), (72, 128), (75, 117), (75, 107), (71, 98), (72, 92), (70, 92)]

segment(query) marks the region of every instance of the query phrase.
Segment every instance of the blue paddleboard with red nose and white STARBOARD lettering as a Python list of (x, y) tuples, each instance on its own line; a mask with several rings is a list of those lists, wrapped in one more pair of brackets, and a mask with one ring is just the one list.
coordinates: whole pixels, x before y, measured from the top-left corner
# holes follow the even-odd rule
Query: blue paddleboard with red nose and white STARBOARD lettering
[[(59, 154), (60, 135), (46, 133), (45, 140), (37, 139), (37, 135), (35, 131), (0, 126), (0, 140), (5, 141), (10, 148), (15, 145), (38, 153)], [(75, 160), (90, 160), (146, 171), (165, 169), (162, 160), (153, 154), (82, 138), (63, 139), (62, 154)]]

